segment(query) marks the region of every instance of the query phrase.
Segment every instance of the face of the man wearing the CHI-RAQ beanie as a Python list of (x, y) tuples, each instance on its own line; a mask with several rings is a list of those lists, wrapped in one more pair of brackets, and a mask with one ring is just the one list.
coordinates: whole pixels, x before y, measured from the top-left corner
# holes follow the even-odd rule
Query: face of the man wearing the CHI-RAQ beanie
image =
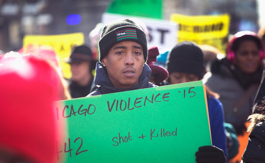
[(101, 61), (116, 88), (131, 88), (138, 83), (145, 63), (142, 45), (134, 41), (112, 46)]

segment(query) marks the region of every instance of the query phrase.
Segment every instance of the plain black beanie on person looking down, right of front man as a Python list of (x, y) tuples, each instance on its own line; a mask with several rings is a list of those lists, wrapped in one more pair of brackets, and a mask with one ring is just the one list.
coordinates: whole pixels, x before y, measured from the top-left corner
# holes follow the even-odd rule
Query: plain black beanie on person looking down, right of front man
[(194, 42), (180, 42), (171, 50), (166, 68), (169, 74), (171, 72), (185, 72), (202, 78), (204, 75), (203, 52)]

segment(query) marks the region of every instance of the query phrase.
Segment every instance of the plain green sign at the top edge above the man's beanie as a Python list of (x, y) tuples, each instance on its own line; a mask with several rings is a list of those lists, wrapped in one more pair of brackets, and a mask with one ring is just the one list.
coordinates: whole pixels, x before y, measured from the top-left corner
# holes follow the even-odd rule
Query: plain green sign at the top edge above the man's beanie
[(108, 13), (162, 19), (162, 0), (113, 0)]

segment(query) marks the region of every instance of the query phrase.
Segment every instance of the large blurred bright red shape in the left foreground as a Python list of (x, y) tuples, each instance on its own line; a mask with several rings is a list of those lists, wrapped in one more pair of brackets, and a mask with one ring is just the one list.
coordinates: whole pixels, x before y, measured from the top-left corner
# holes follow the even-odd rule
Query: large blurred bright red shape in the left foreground
[(55, 161), (59, 132), (52, 101), (58, 80), (55, 69), (37, 57), (2, 62), (0, 149), (35, 162)]

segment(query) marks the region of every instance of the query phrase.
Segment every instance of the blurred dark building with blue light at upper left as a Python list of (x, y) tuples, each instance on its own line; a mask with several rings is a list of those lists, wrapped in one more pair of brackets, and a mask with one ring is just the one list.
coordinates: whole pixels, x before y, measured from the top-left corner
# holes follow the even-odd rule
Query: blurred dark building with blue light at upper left
[(110, 1), (0, 0), (0, 49), (17, 51), (24, 35), (83, 32), (88, 42), (89, 32), (101, 21)]

